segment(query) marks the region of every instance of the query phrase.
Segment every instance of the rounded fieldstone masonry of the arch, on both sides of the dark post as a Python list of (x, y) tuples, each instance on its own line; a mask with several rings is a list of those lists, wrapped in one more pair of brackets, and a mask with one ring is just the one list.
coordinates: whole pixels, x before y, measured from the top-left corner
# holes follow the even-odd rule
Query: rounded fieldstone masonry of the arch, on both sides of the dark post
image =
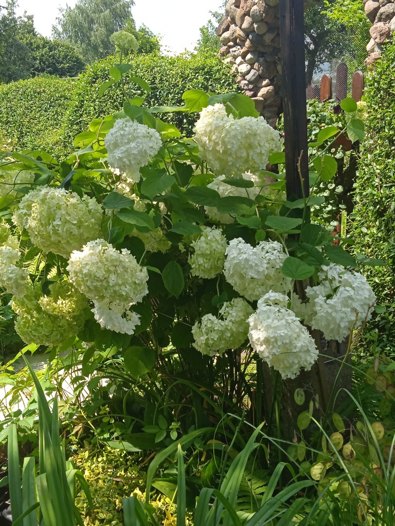
[[(305, 8), (313, 3), (305, 0)], [(373, 24), (366, 65), (381, 56), (382, 44), (395, 32), (395, 0), (363, 0)], [(281, 51), (279, 0), (229, 0), (216, 32), (220, 56), (238, 74), (243, 93), (275, 127), (281, 106)]]

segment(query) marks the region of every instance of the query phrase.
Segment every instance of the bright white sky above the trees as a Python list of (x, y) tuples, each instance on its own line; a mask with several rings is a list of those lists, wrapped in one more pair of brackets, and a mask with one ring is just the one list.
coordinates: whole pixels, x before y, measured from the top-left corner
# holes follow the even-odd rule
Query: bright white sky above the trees
[[(18, 4), (17, 14), (26, 11), (33, 15), (37, 32), (50, 37), (58, 8), (66, 4), (74, 7), (76, 0), (18, 0)], [(221, 0), (135, 0), (132, 15), (137, 26), (145, 24), (162, 36), (162, 46), (180, 53), (185, 48), (193, 50), (199, 28), (210, 18), (209, 11), (216, 11), (221, 4)]]

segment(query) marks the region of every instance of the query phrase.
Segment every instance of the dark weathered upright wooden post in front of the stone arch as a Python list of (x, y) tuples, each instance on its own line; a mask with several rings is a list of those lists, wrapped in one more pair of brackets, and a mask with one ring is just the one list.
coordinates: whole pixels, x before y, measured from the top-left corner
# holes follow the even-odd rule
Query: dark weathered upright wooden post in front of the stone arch
[(303, 0), (280, 0), (287, 198), (309, 195)]

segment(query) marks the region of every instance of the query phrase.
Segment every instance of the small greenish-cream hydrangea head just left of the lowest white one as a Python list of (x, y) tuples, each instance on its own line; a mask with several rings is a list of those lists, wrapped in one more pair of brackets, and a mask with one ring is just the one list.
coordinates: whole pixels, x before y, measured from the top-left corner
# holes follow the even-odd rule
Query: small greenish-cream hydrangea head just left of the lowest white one
[(226, 349), (238, 349), (247, 339), (246, 319), (252, 314), (252, 307), (242, 298), (235, 298), (223, 304), (220, 318), (206, 314), (192, 327), (193, 346), (203, 355), (215, 356)]

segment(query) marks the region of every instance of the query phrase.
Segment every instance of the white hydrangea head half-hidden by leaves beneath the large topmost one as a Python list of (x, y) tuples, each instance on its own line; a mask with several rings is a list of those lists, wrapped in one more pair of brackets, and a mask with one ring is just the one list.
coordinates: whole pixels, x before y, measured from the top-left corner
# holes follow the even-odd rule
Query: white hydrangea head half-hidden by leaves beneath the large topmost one
[[(221, 197), (227, 196), (238, 196), (238, 197), (249, 197), (250, 199), (255, 199), (255, 197), (260, 193), (262, 187), (266, 184), (266, 181), (262, 180), (260, 177), (251, 174), (251, 172), (246, 172), (242, 175), (243, 179), (252, 181), (254, 185), (251, 188), (240, 188), (238, 186), (228, 185), (223, 183), (223, 180), (226, 178), (225, 175), (220, 175), (215, 177), (211, 183), (207, 186), (217, 191)], [(206, 214), (213, 219), (214, 221), (219, 221), (225, 224), (233, 223), (235, 218), (230, 214), (220, 214), (219, 211), (213, 206), (205, 206), (204, 210)]]

